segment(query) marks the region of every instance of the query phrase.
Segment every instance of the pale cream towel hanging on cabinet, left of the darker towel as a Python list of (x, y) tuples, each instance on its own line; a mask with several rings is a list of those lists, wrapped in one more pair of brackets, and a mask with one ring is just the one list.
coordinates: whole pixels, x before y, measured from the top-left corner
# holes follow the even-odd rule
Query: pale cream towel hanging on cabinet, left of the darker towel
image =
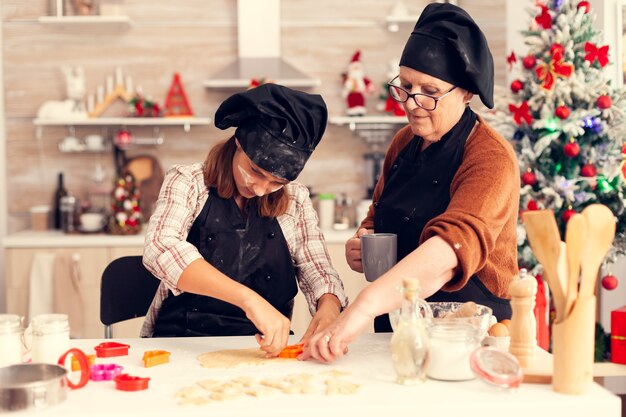
[(54, 253), (36, 252), (30, 266), (28, 320), (39, 314), (54, 313), (52, 274)]

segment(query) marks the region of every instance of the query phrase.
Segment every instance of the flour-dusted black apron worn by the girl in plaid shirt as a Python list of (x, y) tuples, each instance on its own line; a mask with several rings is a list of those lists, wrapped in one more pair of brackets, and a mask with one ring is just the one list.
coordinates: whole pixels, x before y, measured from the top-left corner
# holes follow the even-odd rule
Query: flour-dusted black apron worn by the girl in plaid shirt
[[(287, 318), (298, 292), (289, 247), (274, 217), (261, 217), (256, 199), (241, 213), (234, 199), (211, 189), (187, 241), (224, 275), (251, 288)], [(155, 321), (153, 337), (246, 336), (259, 333), (242, 309), (213, 297), (171, 291)]]

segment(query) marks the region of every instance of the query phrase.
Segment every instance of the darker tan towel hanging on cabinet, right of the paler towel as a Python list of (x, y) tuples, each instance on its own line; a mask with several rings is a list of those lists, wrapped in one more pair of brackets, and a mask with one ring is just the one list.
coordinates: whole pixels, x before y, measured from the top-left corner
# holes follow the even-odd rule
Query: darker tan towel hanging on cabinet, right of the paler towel
[(81, 280), (80, 255), (58, 255), (54, 262), (54, 312), (67, 314), (72, 338), (84, 337), (85, 314), (80, 293)]

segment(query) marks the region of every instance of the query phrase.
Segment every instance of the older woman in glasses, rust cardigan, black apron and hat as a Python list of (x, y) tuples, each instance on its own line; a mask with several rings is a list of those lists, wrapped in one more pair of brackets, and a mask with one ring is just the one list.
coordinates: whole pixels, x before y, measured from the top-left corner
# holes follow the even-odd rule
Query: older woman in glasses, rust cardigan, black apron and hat
[(372, 319), (401, 304), (402, 278), (417, 277), (428, 301), (475, 301), (509, 318), (517, 273), (519, 171), (511, 146), (469, 107), (493, 107), (493, 58), (472, 18), (452, 4), (429, 4), (389, 83), (409, 126), (393, 138), (374, 203), (346, 258), (362, 272), (360, 238), (398, 235), (398, 263), (365, 288), (337, 322), (313, 336), (302, 359), (332, 361)]

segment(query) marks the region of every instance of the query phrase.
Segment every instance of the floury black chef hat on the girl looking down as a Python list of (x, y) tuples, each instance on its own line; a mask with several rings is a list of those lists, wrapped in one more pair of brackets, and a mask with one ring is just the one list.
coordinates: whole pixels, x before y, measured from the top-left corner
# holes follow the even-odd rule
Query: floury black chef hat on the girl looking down
[(320, 95), (277, 84), (237, 93), (215, 113), (215, 126), (236, 126), (248, 158), (279, 178), (293, 181), (322, 139), (328, 111)]

